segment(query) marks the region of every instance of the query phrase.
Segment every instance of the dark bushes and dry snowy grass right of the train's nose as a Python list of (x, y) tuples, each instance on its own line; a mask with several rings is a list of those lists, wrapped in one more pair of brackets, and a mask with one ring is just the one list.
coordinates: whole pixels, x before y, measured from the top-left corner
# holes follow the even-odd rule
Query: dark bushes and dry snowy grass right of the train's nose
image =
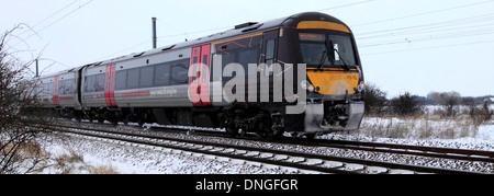
[[(425, 103), (436, 103), (426, 106)], [(378, 87), (366, 87), (366, 118), (352, 135), (372, 138), (457, 139), (475, 137), (481, 125), (492, 124), (489, 102), (479, 104), (458, 92), (431, 92), (419, 100), (407, 92), (392, 100)]]

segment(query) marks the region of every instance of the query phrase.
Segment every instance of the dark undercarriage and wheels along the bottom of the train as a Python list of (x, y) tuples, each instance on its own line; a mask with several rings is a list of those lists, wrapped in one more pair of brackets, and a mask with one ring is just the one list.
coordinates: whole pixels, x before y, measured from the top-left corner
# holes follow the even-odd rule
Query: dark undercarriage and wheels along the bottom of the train
[(113, 125), (136, 123), (178, 125), (186, 127), (222, 128), (229, 136), (255, 134), (258, 138), (278, 138), (289, 132), (292, 137), (307, 137), (359, 128), (363, 103), (344, 101), (308, 102), (300, 115), (285, 115), (284, 106), (237, 105), (225, 107), (121, 108), (90, 107), (82, 111), (57, 108), (59, 117)]

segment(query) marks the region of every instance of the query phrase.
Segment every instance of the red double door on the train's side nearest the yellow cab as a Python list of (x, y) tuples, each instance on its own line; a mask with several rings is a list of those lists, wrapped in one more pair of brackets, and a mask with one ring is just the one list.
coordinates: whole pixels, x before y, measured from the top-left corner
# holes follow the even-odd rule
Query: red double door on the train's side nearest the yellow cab
[[(210, 66), (211, 45), (206, 44), (192, 48), (190, 65), (190, 96), (194, 105), (211, 105), (210, 97)], [(195, 76), (195, 77), (194, 77)]]

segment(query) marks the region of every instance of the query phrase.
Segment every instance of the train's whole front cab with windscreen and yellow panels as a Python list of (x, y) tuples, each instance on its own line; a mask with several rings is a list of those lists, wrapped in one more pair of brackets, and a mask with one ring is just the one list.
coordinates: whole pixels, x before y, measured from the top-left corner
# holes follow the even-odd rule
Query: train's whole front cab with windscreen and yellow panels
[(296, 37), (291, 38), (299, 41), (294, 47), (300, 53), (293, 60), (307, 66), (307, 80), (301, 83), (307, 102), (304, 114), (287, 117), (285, 131), (314, 136), (357, 130), (364, 112), (364, 78), (351, 31), (329, 15), (300, 16), (294, 26)]

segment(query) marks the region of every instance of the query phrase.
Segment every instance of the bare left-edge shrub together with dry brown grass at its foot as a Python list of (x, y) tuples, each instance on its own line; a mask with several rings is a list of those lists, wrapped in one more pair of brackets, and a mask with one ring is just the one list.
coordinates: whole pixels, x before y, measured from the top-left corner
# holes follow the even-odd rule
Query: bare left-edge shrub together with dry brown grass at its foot
[(40, 115), (50, 111), (42, 108), (32, 91), (36, 82), (30, 67), (35, 58), (22, 61), (18, 56), (24, 51), (9, 46), (21, 26), (0, 34), (0, 174), (46, 173), (53, 168), (58, 171), (53, 173), (116, 173), (112, 166), (88, 165), (74, 151), (53, 159), (38, 145), (52, 135), (55, 118)]

